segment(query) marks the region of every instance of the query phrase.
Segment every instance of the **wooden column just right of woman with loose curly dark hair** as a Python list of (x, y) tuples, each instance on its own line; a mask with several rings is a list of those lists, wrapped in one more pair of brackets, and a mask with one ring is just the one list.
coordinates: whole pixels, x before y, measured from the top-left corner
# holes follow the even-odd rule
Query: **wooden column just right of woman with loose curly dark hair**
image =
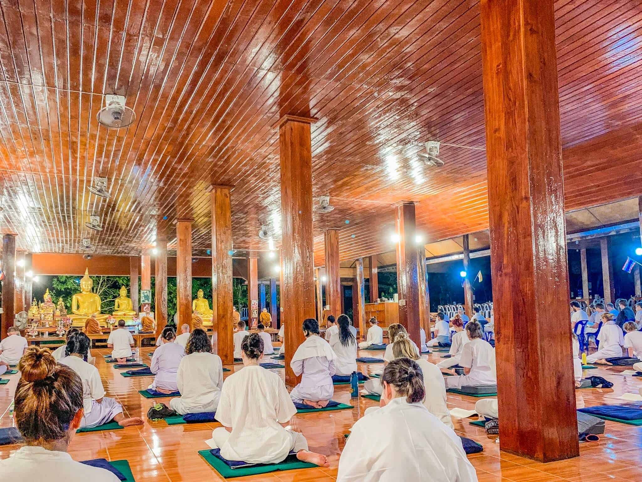
[(234, 363), (230, 190), (230, 186), (214, 186), (212, 190), (213, 344), (225, 365)]

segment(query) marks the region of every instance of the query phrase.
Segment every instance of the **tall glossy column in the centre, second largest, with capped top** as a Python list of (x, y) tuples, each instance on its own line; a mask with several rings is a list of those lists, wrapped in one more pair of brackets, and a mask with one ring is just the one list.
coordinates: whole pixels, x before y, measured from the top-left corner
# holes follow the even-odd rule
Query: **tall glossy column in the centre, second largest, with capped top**
[[(304, 341), (304, 335), (300, 329), (301, 323), (306, 318), (315, 317), (310, 137), (310, 124), (313, 121), (287, 115), (279, 121), (282, 215), (281, 314), (282, 321), (287, 326), (285, 382), (289, 386), (297, 384), (297, 377), (290, 368), (290, 362), (297, 348)], [(338, 248), (338, 241), (336, 247)], [(338, 249), (336, 257), (338, 258)], [(338, 278), (338, 263), (336, 267), (336, 278)], [(330, 276), (331, 273), (328, 273), (329, 282)], [(336, 296), (340, 296), (339, 291), (335, 294), (334, 307), (338, 301)]]

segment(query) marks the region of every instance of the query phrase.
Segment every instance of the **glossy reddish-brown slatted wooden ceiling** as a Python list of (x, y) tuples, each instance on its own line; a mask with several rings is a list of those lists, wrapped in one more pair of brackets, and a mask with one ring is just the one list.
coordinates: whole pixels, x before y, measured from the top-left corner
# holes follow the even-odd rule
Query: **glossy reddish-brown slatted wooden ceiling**
[[(19, 249), (135, 254), (192, 218), (211, 247), (209, 189), (231, 184), (234, 245), (280, 241), (282, 114), (313, 116), (315, 262), (390, 251), (390, 205), (419, 202), (426, 242), (488, 228), (476, 1), (0, 0), (0, 230)], [(642, 193), (642, 4), (556, 3), (567, 210)], [(103, 94), (135, 123), (99, 127)], [(108, 177), (111, 197), (89, 193)], [(89, 215), (103, 231), (85, 228)], [(163, 218), (167, 219), (164, 220)], [(346, 224), (346, 221), (349, 224)]]

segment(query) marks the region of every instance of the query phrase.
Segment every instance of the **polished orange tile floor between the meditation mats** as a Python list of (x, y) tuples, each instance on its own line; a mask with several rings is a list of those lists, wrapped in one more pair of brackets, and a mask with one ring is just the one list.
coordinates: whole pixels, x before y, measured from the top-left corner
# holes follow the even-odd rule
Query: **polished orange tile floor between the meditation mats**
[[(146, 353), (151, 348), (144, 348)], [(96, 353), (107, 353), (107, 350), (92, 350)], [(439, 361), (442, 353), (428, 355), (430, 361)], [(381, 357), (383, 352), (364, 352), (360, 356)], [(424, 355), (426, 356), (426, 355)], [(125, 378), (118, 375), (116, 369), (98, 357), (100, 370), (107, 395), (116, 398), (125, 413), (130, 416), (145, 416), (152, 400), (147, 400), (137, 393), (150, 383), (148, 377)], [(382, 364), (360, 364), (364, 373), (381, 370)], [(229, 366), (240, 370), (241, 366)], [(599, 404), (626, 403), (617, 397), (622, 393), (638, 393), (642, 378), (620, 375), (624, 368), (600, 368), (586, 371), (585, 375), (600, 375), (614, 383), (612, 389), (582, 389), (577, 391), (578, 408)], [(275, 370), (280, 371), (281, 370)], [(226, 372), (228, 375), (231, 372)], [(8, 417), (8, 406), (15, 391), (19, 375), (10, 375), (9, 384), (0, 386), (0, 427), (11, 425)], [(264, 476), (252, 476), (234, 479), (236, 481), (288, 481), (288, 482), (329, 482), (336, 478), (339, 455), (345, 444), (343, 434), (358, 420), (363, 411), (376, 402), (366, 398), (351, 399), (349, 386), (336, 386), (334, 399), (354, 405), (352, 411), (332, 411), (297, 415), (292, 420), (295, 430), (301, 431), (308, 438), (311, 450), (326, 454), (330, 460), (329, 468), (292, 470), (275, 472)], [(157, 399), (168, 403), (168, 399)], [(476, 398), (463, 395), (448, 395), (448, 406), (471, 409)], [(495, 436), (487, 436), (482, 428), (469, 425), (469, 419), (453, 418), (458, 434), (467, 436), (482, 443), (484, 451), (470, 456), (477, 470), (480, 482), (515, 481), (515, 482), (549, 482), (549, 481), (591, 481), (591, 482), (625, 482), (642, 481), (642, 427), (606, 422), (606, 432), (602, 440), (596, 443), (580, 444), (580, 457), (573, 460), (537, 463), (499, 451)], [(211, 436), (211, 431), (218, 424), (173, 425), (164, 422), (146, 421), (140, 427), (127, 427), (113, 432), (94, 432), (79, 434), (74, 437), (69, 452), (74, 460), (107, 458), (108, 460), (127, 459), (137, 482), (179, 482), (223, 480), (198, 456), (198, 451), (207, 449), (204, 440)], [(8, 457), (18, 445), (0, 447), (0, 458)], [(1, 474), (0, 474), (1, 479)]]

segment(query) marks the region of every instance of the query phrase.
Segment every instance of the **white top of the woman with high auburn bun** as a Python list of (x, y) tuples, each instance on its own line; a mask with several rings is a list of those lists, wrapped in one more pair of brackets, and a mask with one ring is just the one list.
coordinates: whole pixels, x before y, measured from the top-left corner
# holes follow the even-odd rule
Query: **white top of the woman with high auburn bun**
[(0, 460), (3, 481), (30, 482), (120, 482), (111, 472), (71, 460), (67, 452), (43, 447), (21, 447)]

